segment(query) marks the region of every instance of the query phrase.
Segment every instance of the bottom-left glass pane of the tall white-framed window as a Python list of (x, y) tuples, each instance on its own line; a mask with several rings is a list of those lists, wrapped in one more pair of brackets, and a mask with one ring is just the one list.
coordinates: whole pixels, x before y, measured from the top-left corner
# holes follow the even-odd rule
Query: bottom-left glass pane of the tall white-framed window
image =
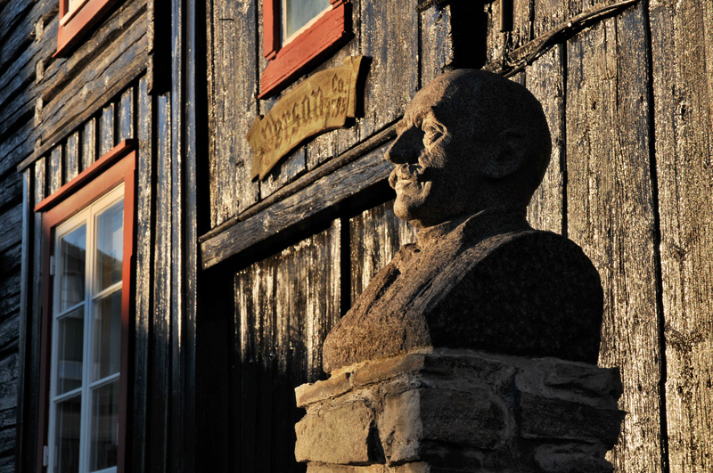
[(54, 472), (79, 471), (79, 429), (81, 428), (82, 397), (74, 396), (57, 404), (57, 437), (55, 440)]

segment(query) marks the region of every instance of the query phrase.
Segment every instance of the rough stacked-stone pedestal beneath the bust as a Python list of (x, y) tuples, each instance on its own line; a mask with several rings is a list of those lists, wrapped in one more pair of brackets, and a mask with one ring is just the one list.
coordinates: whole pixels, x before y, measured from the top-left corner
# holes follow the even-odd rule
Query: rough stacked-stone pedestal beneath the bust
[(359, 363), (296, 390), (308, 473), (604, 473), (619, 371), (465, 350)]

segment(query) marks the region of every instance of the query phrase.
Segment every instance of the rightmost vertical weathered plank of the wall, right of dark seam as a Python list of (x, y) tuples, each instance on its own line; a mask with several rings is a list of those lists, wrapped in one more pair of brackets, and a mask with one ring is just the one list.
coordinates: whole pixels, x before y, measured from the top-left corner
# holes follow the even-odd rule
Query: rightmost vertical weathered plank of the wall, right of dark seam
[(713, 6), (650, 3), (670, 471), (713, 470)]

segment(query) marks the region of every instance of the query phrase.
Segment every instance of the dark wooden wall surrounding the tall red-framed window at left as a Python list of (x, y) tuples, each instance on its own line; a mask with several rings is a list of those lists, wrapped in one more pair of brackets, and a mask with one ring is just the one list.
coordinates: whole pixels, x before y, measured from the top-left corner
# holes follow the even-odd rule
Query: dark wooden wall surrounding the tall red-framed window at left
[[(70, 55), (53, 58), (58, 1), (0, 2), (0, 471), (36, 471), (41, 448), (42, 216), (33, 208), (124, 139), (138, 143), (127, 471), (193, 469), (184, 432), (198, 436), (194, 158), (205, 86), (195, 77), (195, 7), (168, 6), (119, 2)], [(153, 67), (154, 55), (170, 73)]]

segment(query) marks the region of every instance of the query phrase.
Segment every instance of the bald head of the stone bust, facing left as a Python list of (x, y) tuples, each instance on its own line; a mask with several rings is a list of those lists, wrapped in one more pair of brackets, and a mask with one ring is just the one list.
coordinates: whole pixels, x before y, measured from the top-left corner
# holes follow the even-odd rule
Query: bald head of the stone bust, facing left
[(508, 79), (458, 69), (416, 94), (386, 159), (394, 211), (426, 228), (488, 208), (524, 210), (549, 163), (542, 106)]

